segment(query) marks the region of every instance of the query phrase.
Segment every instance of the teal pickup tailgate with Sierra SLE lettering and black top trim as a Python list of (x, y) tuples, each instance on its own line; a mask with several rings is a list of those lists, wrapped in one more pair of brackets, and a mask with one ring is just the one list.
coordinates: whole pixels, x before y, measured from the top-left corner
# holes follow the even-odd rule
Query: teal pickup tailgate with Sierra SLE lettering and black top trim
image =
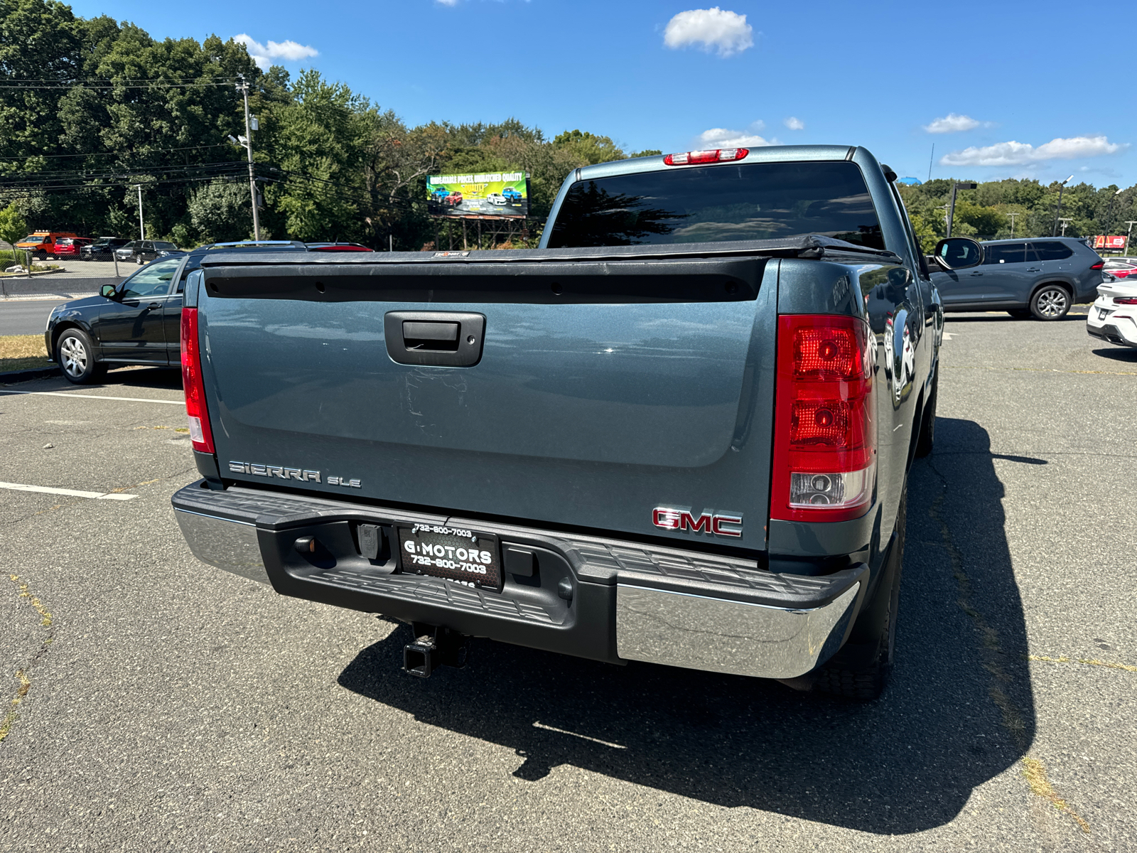
[[(398, 257), (207, 266), (223, 477), (669, 538), (712, 537), (654, 527), (657, 506), (729, 513), (744, 535), (721, 544), (764, 547), (778, 262)], [(483, 316), (480, 359), (395, 362), (390, 312)]]

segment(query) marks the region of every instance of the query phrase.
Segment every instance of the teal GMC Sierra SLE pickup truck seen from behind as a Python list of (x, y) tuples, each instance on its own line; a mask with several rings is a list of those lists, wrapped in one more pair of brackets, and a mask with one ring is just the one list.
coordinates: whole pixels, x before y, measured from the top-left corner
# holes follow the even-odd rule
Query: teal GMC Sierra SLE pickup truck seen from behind
[(943, 330), (895, 177), (688, 151), (574, 171), (537, 249), (210, 255), (186, 543), (417, 676), (483, 637), (877, 697)]

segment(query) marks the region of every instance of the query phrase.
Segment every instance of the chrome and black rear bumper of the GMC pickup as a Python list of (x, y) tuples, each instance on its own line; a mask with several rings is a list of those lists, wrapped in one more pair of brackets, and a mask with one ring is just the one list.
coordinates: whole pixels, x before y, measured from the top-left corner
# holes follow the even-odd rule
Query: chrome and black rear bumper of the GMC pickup
[[(779, 574), (756, 561), (432, 513), (205, 481), (173, 496), (198, 560), (271, 583), (283, 595), (475, 637), (594, 660), (648, 661), (763, 678), (795, 678), (844, 644), (869, 579), (856, 564), (824, 577)], [(357, 525), (395, 541), (397, 525), (429, 522), (497, 536), (500, 591), (402, 573), (387, 548), (368, 560)], [(312, 537), (318, 553), (298, 553)], [(307, 541), (307, 539), (305, 539)]]

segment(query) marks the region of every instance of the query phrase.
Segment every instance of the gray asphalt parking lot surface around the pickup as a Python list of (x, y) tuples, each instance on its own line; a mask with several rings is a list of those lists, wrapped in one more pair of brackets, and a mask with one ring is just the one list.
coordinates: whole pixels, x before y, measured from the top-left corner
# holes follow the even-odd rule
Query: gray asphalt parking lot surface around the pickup
[(190, 555), (175, 372), (8, 387), (0, 850), (1137, 847), (1137, 350), (949, 315), (943, 368), (865, 705), (490, 641), (409, 678), (408, 629)]

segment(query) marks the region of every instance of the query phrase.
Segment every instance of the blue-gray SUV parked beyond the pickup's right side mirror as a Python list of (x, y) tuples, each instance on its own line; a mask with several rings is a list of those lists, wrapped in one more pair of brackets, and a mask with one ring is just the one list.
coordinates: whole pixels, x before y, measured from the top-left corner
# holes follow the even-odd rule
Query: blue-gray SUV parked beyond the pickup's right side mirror
[(982, 247), (979, 266), (932, 274), (944, 310), (1006, 310), (1013, 317), (1061, 320), (1071, 305), (1097, 297), (1105, 262), (1077, 238), (988, 240)]

